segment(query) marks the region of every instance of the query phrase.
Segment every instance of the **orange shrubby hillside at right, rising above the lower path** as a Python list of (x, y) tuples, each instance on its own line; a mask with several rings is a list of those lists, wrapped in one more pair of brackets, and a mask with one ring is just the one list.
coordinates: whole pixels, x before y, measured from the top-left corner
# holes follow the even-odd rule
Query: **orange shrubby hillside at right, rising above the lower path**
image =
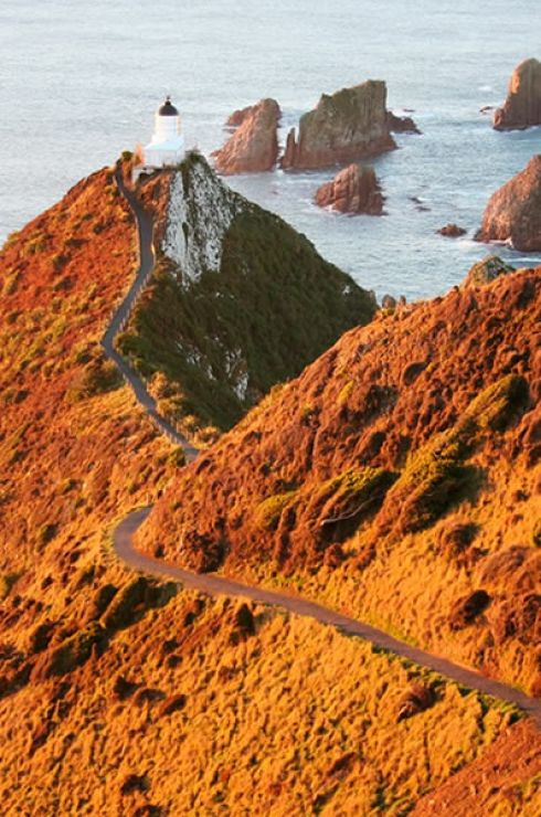
[(179, 475), (140, 547), (541, 694), (540, 318), (541, 269), (491, 259), (351, 330)]

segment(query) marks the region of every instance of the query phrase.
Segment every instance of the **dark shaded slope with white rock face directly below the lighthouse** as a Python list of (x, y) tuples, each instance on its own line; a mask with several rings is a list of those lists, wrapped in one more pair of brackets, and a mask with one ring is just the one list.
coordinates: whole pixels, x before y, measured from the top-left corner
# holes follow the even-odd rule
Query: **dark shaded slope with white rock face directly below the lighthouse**
[[(158, 253), (119, 348), (150, 382), (166, 375), (166, 410), (187, 433), (224, 429), (343, 331), (369, 321), (375, 303), (304, 235), (225, 188), (201, 157), (170, 179), (171, 201), (180, 183), (184, 201), (174, 214), (170, 202), (163, 232), (170, 243), (182, 233), (173, 243), (184, 252), (185, 240), (184, 268), (181, 251)], [(197, 274), (187, 268), (194, 257)], [(218, 262), (203, 266), (205, 257)]]

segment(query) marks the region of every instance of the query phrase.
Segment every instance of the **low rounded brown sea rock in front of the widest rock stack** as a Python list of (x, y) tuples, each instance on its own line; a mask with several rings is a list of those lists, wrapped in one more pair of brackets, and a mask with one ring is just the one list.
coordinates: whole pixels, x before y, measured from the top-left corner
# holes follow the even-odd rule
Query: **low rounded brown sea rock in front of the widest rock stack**
[(340, 213), (381, 215), (383, 195), (373, 168), (350, 165), (316, 193), (316, 204)]

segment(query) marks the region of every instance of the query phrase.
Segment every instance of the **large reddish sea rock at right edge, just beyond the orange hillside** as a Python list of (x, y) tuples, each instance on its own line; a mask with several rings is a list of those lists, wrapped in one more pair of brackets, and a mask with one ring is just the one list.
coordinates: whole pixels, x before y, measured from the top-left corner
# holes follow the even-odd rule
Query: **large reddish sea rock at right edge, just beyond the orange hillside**
[(541, 250), (541, 155), (496, 191), (476, 241), (505, 241), (526, 253)]

